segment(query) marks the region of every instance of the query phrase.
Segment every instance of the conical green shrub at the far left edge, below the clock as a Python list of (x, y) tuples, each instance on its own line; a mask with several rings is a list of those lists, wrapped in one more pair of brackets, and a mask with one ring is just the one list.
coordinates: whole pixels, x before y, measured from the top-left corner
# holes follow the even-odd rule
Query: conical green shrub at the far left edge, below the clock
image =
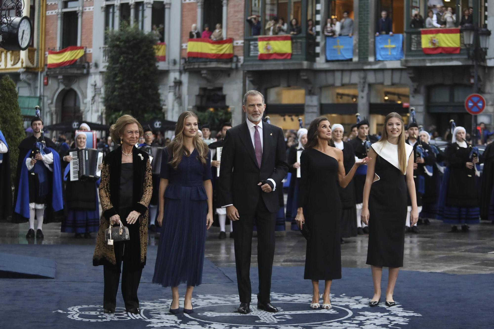
[(0, 80), (0, 130), (5, 136), (10, 155), (10, 177), (15, 181), (18, 146), (26, 137), (22, 122), (21, 108), (17, 100), (17, 87), (9, 76)]

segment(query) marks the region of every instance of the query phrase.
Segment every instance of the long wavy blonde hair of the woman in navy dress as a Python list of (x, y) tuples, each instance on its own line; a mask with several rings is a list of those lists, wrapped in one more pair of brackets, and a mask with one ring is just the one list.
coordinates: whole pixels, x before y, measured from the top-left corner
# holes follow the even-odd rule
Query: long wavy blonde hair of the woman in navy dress
[[(178, 164), (180, 164), (180, 161), (182, 160), (182, 155), (185, 154), (185, 156), (190, 157), (190, 151), (184, 146), (184, 140), (183, 140), (185, 119), (189, 117), (196, 118), (199, 123), (199, 118), (194, 112), (191, 111), (183, 112), (178, 117), (177, 125), (175, 126), (175, 138), (167, 146), (168, 153), (171, 155), (171, 159), (168, 163), (173, 167), (173, 169), (176, 169), (178, 167)], [(194, 136), (194, 140), (192, 141), (192, 143), (194, 144), (194, 148), (197, 150), (198, 160), (201, 161), (203, 165), (205, 165), (207, 154), (209, 152), (207, 144), (202, 140), (201, 137), (199, 137), (199, 134), (196, 134)]]

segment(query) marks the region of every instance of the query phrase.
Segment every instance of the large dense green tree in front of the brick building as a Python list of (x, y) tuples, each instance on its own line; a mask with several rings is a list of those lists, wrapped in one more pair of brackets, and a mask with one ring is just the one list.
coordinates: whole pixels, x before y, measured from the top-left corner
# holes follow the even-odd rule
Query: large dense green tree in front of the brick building
[(104, 76), (107, 122), (115, 122), (122, 114), (130, 114), (139, 121), (162, 118), (153, 48), (156, 36), (126, 23), (120, 30), (107, 33), (108, 66)]

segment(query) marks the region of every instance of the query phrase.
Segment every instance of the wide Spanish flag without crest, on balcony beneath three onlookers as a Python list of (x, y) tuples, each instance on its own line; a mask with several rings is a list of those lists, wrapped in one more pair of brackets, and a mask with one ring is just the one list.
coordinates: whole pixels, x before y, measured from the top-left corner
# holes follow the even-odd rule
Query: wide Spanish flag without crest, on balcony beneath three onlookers
[(233, 58), (233, 39), (212, 41), (206, 38), (189, 39), (187, 57), (229, 59)]

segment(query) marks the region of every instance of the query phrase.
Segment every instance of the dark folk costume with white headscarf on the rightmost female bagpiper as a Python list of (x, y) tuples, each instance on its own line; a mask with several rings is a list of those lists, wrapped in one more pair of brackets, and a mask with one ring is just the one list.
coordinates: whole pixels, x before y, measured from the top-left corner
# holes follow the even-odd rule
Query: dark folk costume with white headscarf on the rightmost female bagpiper
[[(476, 165), (472, 169), (466, 167), (467, 162), (472, 162), (474, 148), (465, 141), (456, 140), (456, 133), (460, 130), (465, 131), (465, 128), (454, 128), (452, 143), (446, 149), (448, 168), (444, 172), (439, 196), (439, 219), (452, 224), (453, 232), (457, 231), (457, 224), (467, 232), (468, 224), (480, 222), (478, 169)], [(480, 163), (481, 159), (477, 157)]]

